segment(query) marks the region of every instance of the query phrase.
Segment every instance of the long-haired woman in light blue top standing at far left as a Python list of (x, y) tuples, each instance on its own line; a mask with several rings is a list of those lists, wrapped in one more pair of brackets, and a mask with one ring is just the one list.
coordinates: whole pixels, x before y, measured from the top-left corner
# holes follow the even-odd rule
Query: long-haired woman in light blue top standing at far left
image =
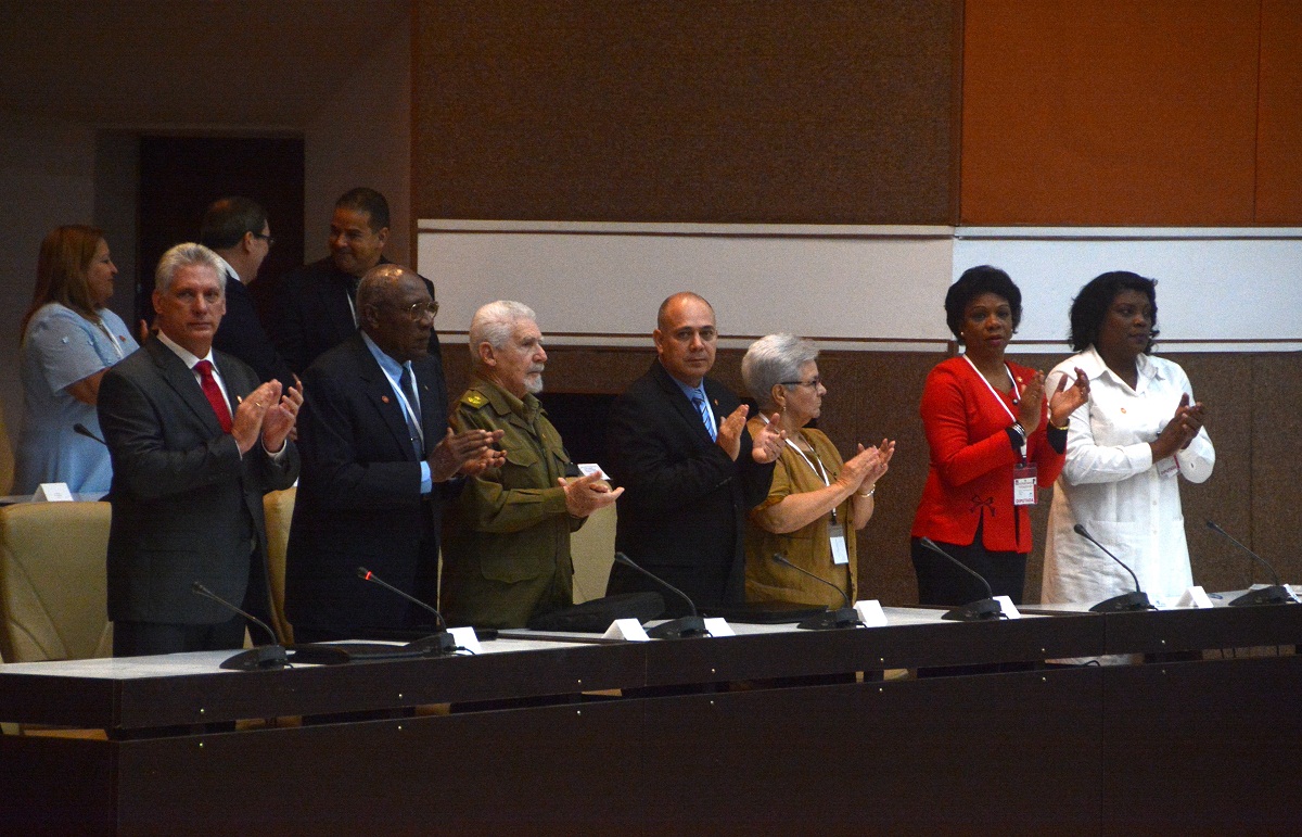
[(18, 351), (26, 402), (14, 468), (18, 494), (31, 494), (42, 482), (66, 482), (74, 493), (108, 492), (108, 448), (73, 428), (100, 435), (100, 378), (138, 348), (122, 318), (104, 308), (116, 274), (108, 242), (94, 227), (60, 227), (40, 242)]

